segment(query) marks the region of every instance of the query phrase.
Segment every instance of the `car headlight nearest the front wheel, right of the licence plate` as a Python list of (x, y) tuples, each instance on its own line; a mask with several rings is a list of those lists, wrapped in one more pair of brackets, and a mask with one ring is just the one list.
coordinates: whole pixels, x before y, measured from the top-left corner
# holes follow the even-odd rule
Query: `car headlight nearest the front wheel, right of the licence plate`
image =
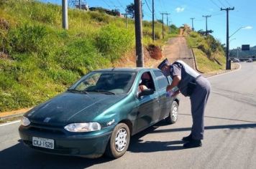
[(66, 125), (64, 128), (69, 132), (92, 132), (101, 130), (101, 125), (98, 122), (76, 122)]

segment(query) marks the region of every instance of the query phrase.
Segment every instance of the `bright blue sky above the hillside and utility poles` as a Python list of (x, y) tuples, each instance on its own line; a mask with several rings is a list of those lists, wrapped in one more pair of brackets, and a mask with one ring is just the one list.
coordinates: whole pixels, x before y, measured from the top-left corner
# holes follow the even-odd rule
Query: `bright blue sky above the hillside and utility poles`
[[(61, 4), (61, 0), (40, 0), (52, 4)], [(70, 0), (69, 0), (70, 1)], [(125, 13), (125, 7), (134, 0), (81, 0), (88, 6), (101, 6), (106, 9), (119, 9)], [(152, 20), (152, 0), (142, 0), (144, 20)], [(206, 29), (206, 18), (208, 18), (208, 29), (213, 30), (212, 35), (219, 39), (222, 44), (227, 41), (227, 11), (221, 8), (228, 7), (229, 11), (229, 49), (241, 47), (242, 44), (256, 46), (256, 1), (255, 0), (155, 0), (155, 18), (162, 19), (161, 12), (168, 12), (170, 24), (183, 26), (192, 25), (196, 31)], [(166, 16), (164, 16), (166, 24)], [(234, 33), (234, 34), (233, 34)], [(232, 35), (233, 34), (233, 35)]]

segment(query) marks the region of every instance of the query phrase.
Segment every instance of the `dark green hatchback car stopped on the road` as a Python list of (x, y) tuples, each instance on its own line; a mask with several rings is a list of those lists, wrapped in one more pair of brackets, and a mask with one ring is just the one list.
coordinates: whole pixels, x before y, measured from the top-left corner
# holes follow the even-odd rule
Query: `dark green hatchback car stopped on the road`
[(25, 145), (45, 153), (119, 158), (130, 136), (178, 118), (178, 99), (159, 69), (113, 68), (90, 72), (66, 92), (29, 110), (19, 135)]

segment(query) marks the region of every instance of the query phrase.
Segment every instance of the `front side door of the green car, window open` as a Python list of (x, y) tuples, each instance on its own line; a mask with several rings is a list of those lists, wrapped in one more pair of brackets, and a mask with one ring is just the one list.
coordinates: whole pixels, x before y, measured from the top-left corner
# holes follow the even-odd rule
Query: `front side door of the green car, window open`
[[(151, 73), (150, 76), (152, 79)], [(149, 127), (158, 119), (156, 113), (159, 112), (159, 100), (158, 93), (155, 90), (155, 82), (153, 81), (153, 79), (150, 87), (150, 90), (154, 90), (154, 93), (152, 95), (146, 95), (136, 98), (138, 105), (137, 132)]]

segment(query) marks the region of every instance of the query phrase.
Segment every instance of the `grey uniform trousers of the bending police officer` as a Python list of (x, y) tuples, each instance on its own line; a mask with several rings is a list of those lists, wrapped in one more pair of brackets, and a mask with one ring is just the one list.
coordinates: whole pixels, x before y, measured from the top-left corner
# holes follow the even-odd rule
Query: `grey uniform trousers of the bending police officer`
[(208, 79), (200, 76), (196, 78), (196, 88), (190, 97), (193, 125), (191, 134), (193, 139), (204, 139), (204, 110), (211, 91)]

